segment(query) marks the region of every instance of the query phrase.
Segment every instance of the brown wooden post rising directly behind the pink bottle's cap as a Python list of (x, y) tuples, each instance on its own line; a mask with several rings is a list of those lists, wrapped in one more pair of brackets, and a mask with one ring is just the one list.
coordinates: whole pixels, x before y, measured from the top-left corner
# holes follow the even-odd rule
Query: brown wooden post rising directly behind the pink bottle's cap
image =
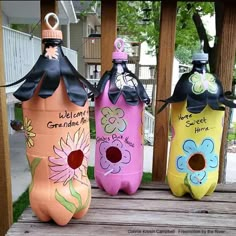
[(101, 74), (112, 67), (112, 52), (116, 39), (116, 0), (101, 1)]

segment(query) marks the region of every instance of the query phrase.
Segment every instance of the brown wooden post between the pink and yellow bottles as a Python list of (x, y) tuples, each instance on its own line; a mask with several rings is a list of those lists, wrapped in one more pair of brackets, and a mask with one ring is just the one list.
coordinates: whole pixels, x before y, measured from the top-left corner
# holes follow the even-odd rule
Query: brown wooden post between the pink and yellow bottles
[(177, 0), (165, 0), (161, 2), (160, 43), (157, 69), (155, 131), (153, 145), (152, 179), (165, 181), (167, 148), (168, 148), (168, 124), (169, 111), (163, 110), (157, 114), (162, 105), (159, 99), (165, 99), (171, 94), (172, 67), (175, 51)]

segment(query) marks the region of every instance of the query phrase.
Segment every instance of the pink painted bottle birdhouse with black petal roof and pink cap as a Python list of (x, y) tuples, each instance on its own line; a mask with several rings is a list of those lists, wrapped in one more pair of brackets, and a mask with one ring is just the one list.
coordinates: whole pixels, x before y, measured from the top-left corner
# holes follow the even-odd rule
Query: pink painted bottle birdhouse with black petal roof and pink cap
[(122, 39), (114, 45), (113, 67), (100, 79), (95, 99), (95, 179), (110, 195), (133, 194), (143, 174), (143, 114), (149, 98), (127, 68)]

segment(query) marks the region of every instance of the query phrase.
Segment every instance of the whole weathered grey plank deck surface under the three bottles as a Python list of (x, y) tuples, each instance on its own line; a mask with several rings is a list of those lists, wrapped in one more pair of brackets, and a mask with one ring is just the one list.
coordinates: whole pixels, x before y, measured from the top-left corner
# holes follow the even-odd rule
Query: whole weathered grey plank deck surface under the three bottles
[(167, 185), (153, 183), (132, 196), (109, 196), (92, 186), (91, 206), (82, 219), (60, 227), (40, 222), (27, 208), (7, 235), (236, 235), (236, 184), (219, 185), (201, 201), (176, 198)]

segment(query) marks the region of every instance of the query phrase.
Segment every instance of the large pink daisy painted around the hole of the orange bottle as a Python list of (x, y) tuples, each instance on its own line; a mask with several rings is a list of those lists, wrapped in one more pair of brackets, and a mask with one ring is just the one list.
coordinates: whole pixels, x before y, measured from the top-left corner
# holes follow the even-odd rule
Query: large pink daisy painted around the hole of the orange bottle
[(61, 138), (60, 148), (53, 147), (57, 157), (48, 157), (50, 162), (50, 177), (54, 183), (63, 182), (66, 185), (71, 179), (83, 184), (83, 177), (87, 177), (88, 157), (90, 151), (89, 133), (78, 130), (74, 137), (67, 134), (66, 140)]

